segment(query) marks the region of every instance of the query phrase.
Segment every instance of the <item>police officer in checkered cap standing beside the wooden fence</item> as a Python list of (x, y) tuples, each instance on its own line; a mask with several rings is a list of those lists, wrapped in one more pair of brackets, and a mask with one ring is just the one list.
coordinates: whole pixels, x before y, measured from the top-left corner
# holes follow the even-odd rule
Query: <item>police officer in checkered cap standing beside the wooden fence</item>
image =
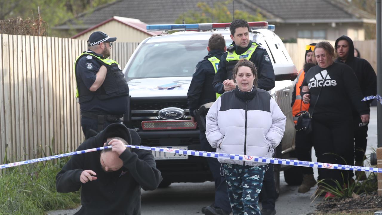
[(118, 122), (126, 112), (129, 87), (120, 65), (111, 59), (110, 48), (116, 37), (96, 31), (89, 36), (88, 50), (74, 64), (76, 97), (81, 110), (85, 138)]

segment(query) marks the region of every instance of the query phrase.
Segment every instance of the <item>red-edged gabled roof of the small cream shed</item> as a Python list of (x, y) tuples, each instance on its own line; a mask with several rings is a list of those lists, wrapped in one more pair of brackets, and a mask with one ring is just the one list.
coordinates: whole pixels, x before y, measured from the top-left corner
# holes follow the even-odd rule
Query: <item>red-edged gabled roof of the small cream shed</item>
[(71, 38), (77, 38), (89, 31), (92, 31), (93, 29), (95, 28), (98, 28), (99, 26), (102, 26), (110, 21), (117, 21), (117, 22), (120, 22), (122, 24), (125, 24), (126, 26), (129, 26), (131, 28), (134, 28), (138, 31), (141, 31), (143, 33), (146, 33), (148, 34), (149, 36), (155, 36), (155, 35), (159, 35), (161, 33), (161, 31), (147, 31), (146, 30), (146, 23), (144, 22), (141, 22), (141, 20), (138, 20), (138, 19), (133, 19), (133, 18), (126, 18), (126, 17), (120, 17), (120, 16), (113, 16), (112, 18), (108, 19), (108, 20), (105, 20), (101, 23), (98, 23), (96, 24), (95, 26), (92, 26), (91, 28), (88, 28), (84, 31), (81, 31), (80, 33), (74, 35), (73, 37)]

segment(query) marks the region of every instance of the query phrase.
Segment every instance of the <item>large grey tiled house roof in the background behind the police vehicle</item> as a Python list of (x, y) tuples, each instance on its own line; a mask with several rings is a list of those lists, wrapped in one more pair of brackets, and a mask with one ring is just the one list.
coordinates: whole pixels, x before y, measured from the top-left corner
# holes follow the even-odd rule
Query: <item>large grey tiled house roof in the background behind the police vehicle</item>
[[(131, 17), (147, 24), (171, 24), (183, 11), (200, 10), (200, 0), (117, 0), (85, 12), (55, 29), (87, 29), (113, 16)], [(225, 0), (204, 0), (213, 2)], [(298, 7), (296, 7), (298, 5)], [(227, 5), (232, 11), (233, 4)], [(369, 22), (376, 17), (339, 0), (235, 0), (235, 10), (261, 13), (272, 23)]]

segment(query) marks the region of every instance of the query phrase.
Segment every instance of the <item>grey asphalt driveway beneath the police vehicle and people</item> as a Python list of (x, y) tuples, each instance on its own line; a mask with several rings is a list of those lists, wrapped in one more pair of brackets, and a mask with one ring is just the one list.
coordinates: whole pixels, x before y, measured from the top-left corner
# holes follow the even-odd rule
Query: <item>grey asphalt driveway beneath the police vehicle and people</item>
[[(367, 142), (366, 155), (369, 155), (373, 148), (377, 148), (377, 108), (372, 107), (370, 113), (370, 124)], [(314, 151), (312, 159), (315, 161)], [(365, 164), (370, 166), (369, 163)], [(314, 169), (317, 178), (317, 169)], [(280, 173), (280, 196), (276, 201), (276, 211), (279, 215), (305, 215), (313, 212), (315, 204), (312, 203), (311, 196), (315, 188), (306, 194), (297, 192), (298, 186), (288, 186), (284, 180), (283, 173)], [(142, 215), (193, 215), (202, 214), (201, 208), (210, 205), (214, 200), (214, 183), (173, 183), (170, 187), (157, 189), (155, 191), (142, 191)], [(261, 203), (260, 203), (261, 205)], [(77, 209), (58, 210), (47, 212), (50, 215), (70, 215)]]

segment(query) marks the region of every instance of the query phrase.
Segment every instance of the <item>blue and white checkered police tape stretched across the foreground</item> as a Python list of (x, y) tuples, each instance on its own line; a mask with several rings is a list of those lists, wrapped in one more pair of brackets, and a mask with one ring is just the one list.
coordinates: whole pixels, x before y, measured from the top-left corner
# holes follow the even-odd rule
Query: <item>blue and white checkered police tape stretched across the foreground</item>
[[(364, 166), (340, 165), (340, 164), (332, 164), (332, 163), (298, 161), (298, 160), (289, 160), (289, 159), (280, 159), (280, 158), (263, 158), (258, 156), (224, 154), (224, 153), (215, 153), (215, 152), (209, 152), (209, 151), (194, 151), (194, 150), (184, 150), (184, 149), (174, 149), (174, 148), (147, 147), (147, 146), (137, 146), (137, 145), (125, 145), (125, 146), (130, 148), (142, 149), (142, 150), (161, 151), (161, 152), (167, 152), (167, 153), (193, 155), (193, 156), (201, 156), (201, 157), (207, 157), (207, 158), (224, 158), (224, 159), (231, 159), (231, 160), (254, 161), (254, 162), (260, 162), (260, 163), (272, 163), (272, 164), (289, 165), (289, 166), (305, 166), (305, 167), (308, 166), (308, 167), (325, 168), (325, 169), (355, 170), (355, 171), (382, 173), (382, 168), (373, 168), (373, 167), (364, 167)], [(37, 159), (20, 161), (15, 163), (8, 163), (8, 164), (0, 165), (0, 169), (9, 168), (13, 166), (20, 166), (20, 165), (29, 164), (29, 163), (36, 163), (40, 161), (47, 161), (47, 160), (62, 158), (62, 157), (70, 156), (70, 155), (79, 155), (79, 154), (83, 154), (83, 153), (87, 153), (91, 151), (104, 150), (105, 148), (111, 148), (111, 147), (112, 146), (91, 148), (87, 150), (64, 153), (61, 155), (53, 155), (53, 156), (44, 157), (44, 158), (37, 158)]]

